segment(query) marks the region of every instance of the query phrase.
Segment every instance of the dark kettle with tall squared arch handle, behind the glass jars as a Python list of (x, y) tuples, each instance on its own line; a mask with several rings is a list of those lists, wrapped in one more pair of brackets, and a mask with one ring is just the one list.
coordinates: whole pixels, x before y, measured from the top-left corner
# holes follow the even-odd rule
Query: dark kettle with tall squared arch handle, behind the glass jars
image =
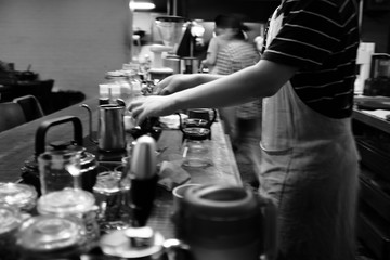
[(35, 138), (35, 154), (28, 158), (21, 168), (23, 182), (32, 185), (38, 195), (41, 195), (41, 184), (39, 179), (38, 156), (46, 152), (46, 134), (50, 128), (62, 123), (72, 122), (74, 127), (74, 139), (69, 142), (58, 141), (50, 143), (54, 151), (70, 150), (80, 153), (80, 167), (82, 188), (92, 192), (96, 182), (98, 160), (95, 155), (86, 151), (82, 146), (82, 123), (78, 117), (64, 116), (51, 120), (42, 121), (38, 127)]

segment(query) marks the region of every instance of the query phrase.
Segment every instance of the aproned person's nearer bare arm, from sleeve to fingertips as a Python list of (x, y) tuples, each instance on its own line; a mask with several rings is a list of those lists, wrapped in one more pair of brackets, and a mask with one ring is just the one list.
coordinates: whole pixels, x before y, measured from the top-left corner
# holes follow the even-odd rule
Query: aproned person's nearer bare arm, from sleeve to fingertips
[(255, 66), (166, 96), (148, 96), (130, 105), (142, 121), (148, 116), (169, 115), (178, 109), (223, 107), (275, 94), (297, 68), (261, 60)]

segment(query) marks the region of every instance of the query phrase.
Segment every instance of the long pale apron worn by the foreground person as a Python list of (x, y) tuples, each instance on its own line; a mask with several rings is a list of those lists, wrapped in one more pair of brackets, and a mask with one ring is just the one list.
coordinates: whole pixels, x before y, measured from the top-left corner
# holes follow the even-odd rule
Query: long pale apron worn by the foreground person
[[(268, 42), (282, 26), (276, 13)], [(260, 193), (278, 207), (281, 259), (354, 259), (359, 156), (350, 118), (316, 113), (289, 82), (263, 100), (262, 118)]]

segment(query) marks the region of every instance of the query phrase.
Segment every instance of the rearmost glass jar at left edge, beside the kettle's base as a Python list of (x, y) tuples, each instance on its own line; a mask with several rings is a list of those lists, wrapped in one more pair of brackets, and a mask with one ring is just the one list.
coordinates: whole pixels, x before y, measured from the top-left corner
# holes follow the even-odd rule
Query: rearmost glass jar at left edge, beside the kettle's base
[(37, 197), (38, 194), (34, 186), (0, 182), (0, 204), (8, 204), (18, 208), (22, 212), (35, 214)]

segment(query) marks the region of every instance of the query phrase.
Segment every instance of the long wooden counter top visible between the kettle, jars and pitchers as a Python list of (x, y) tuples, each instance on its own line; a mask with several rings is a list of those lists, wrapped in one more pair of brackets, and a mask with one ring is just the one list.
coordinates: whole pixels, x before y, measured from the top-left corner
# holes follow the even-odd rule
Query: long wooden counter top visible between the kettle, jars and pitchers
[[(86, 102), (93, 110), (93, 127), (96, 129), (98, 121), (98, 99), (91, 99)], [(81, 104), (81, 103), (80, 103)], [(48, 115), (35, 121), (22, 125), (11, 130), (0, 133), (0, 182), (15, 182), (20, 179), (21, 167), (24, 161), (30, 158), (35, 151), (35, 134), (39, 125), (48, 119), (61, 116), (77, 116), (81, 119), (83, 126), (83, 135), (88, 135), (89, 116), (84, 108), (74, 105), (54, 114)], [(238, 168), (229, 139), (223, 132), (220, 121), (212, 125), (212, 161), (213, 165), (207, 168), (186, 168), (191, 176), (191, 182), (202, 184), (231, 184), (242, 185)], [(47, 133), (46, 143), (52, 141), (69, 141), (73, 139), (72, 123), (54, 126)], [(158, 147), (167, 147), (161, 155), (162, 160), (169, 160), (171, 157), (178, 158), (181, 154), (182, 133), (179, 130), (164, 130), (158, 141)], [(99, 156), (98, 156), (99, 158)], [(171, 192), (159, 187), (155, 202), (153, 217), (150, 225), (160, 231), (166, 238), (172, 237), (172, 223), (170, 221), (172, 207)]]

